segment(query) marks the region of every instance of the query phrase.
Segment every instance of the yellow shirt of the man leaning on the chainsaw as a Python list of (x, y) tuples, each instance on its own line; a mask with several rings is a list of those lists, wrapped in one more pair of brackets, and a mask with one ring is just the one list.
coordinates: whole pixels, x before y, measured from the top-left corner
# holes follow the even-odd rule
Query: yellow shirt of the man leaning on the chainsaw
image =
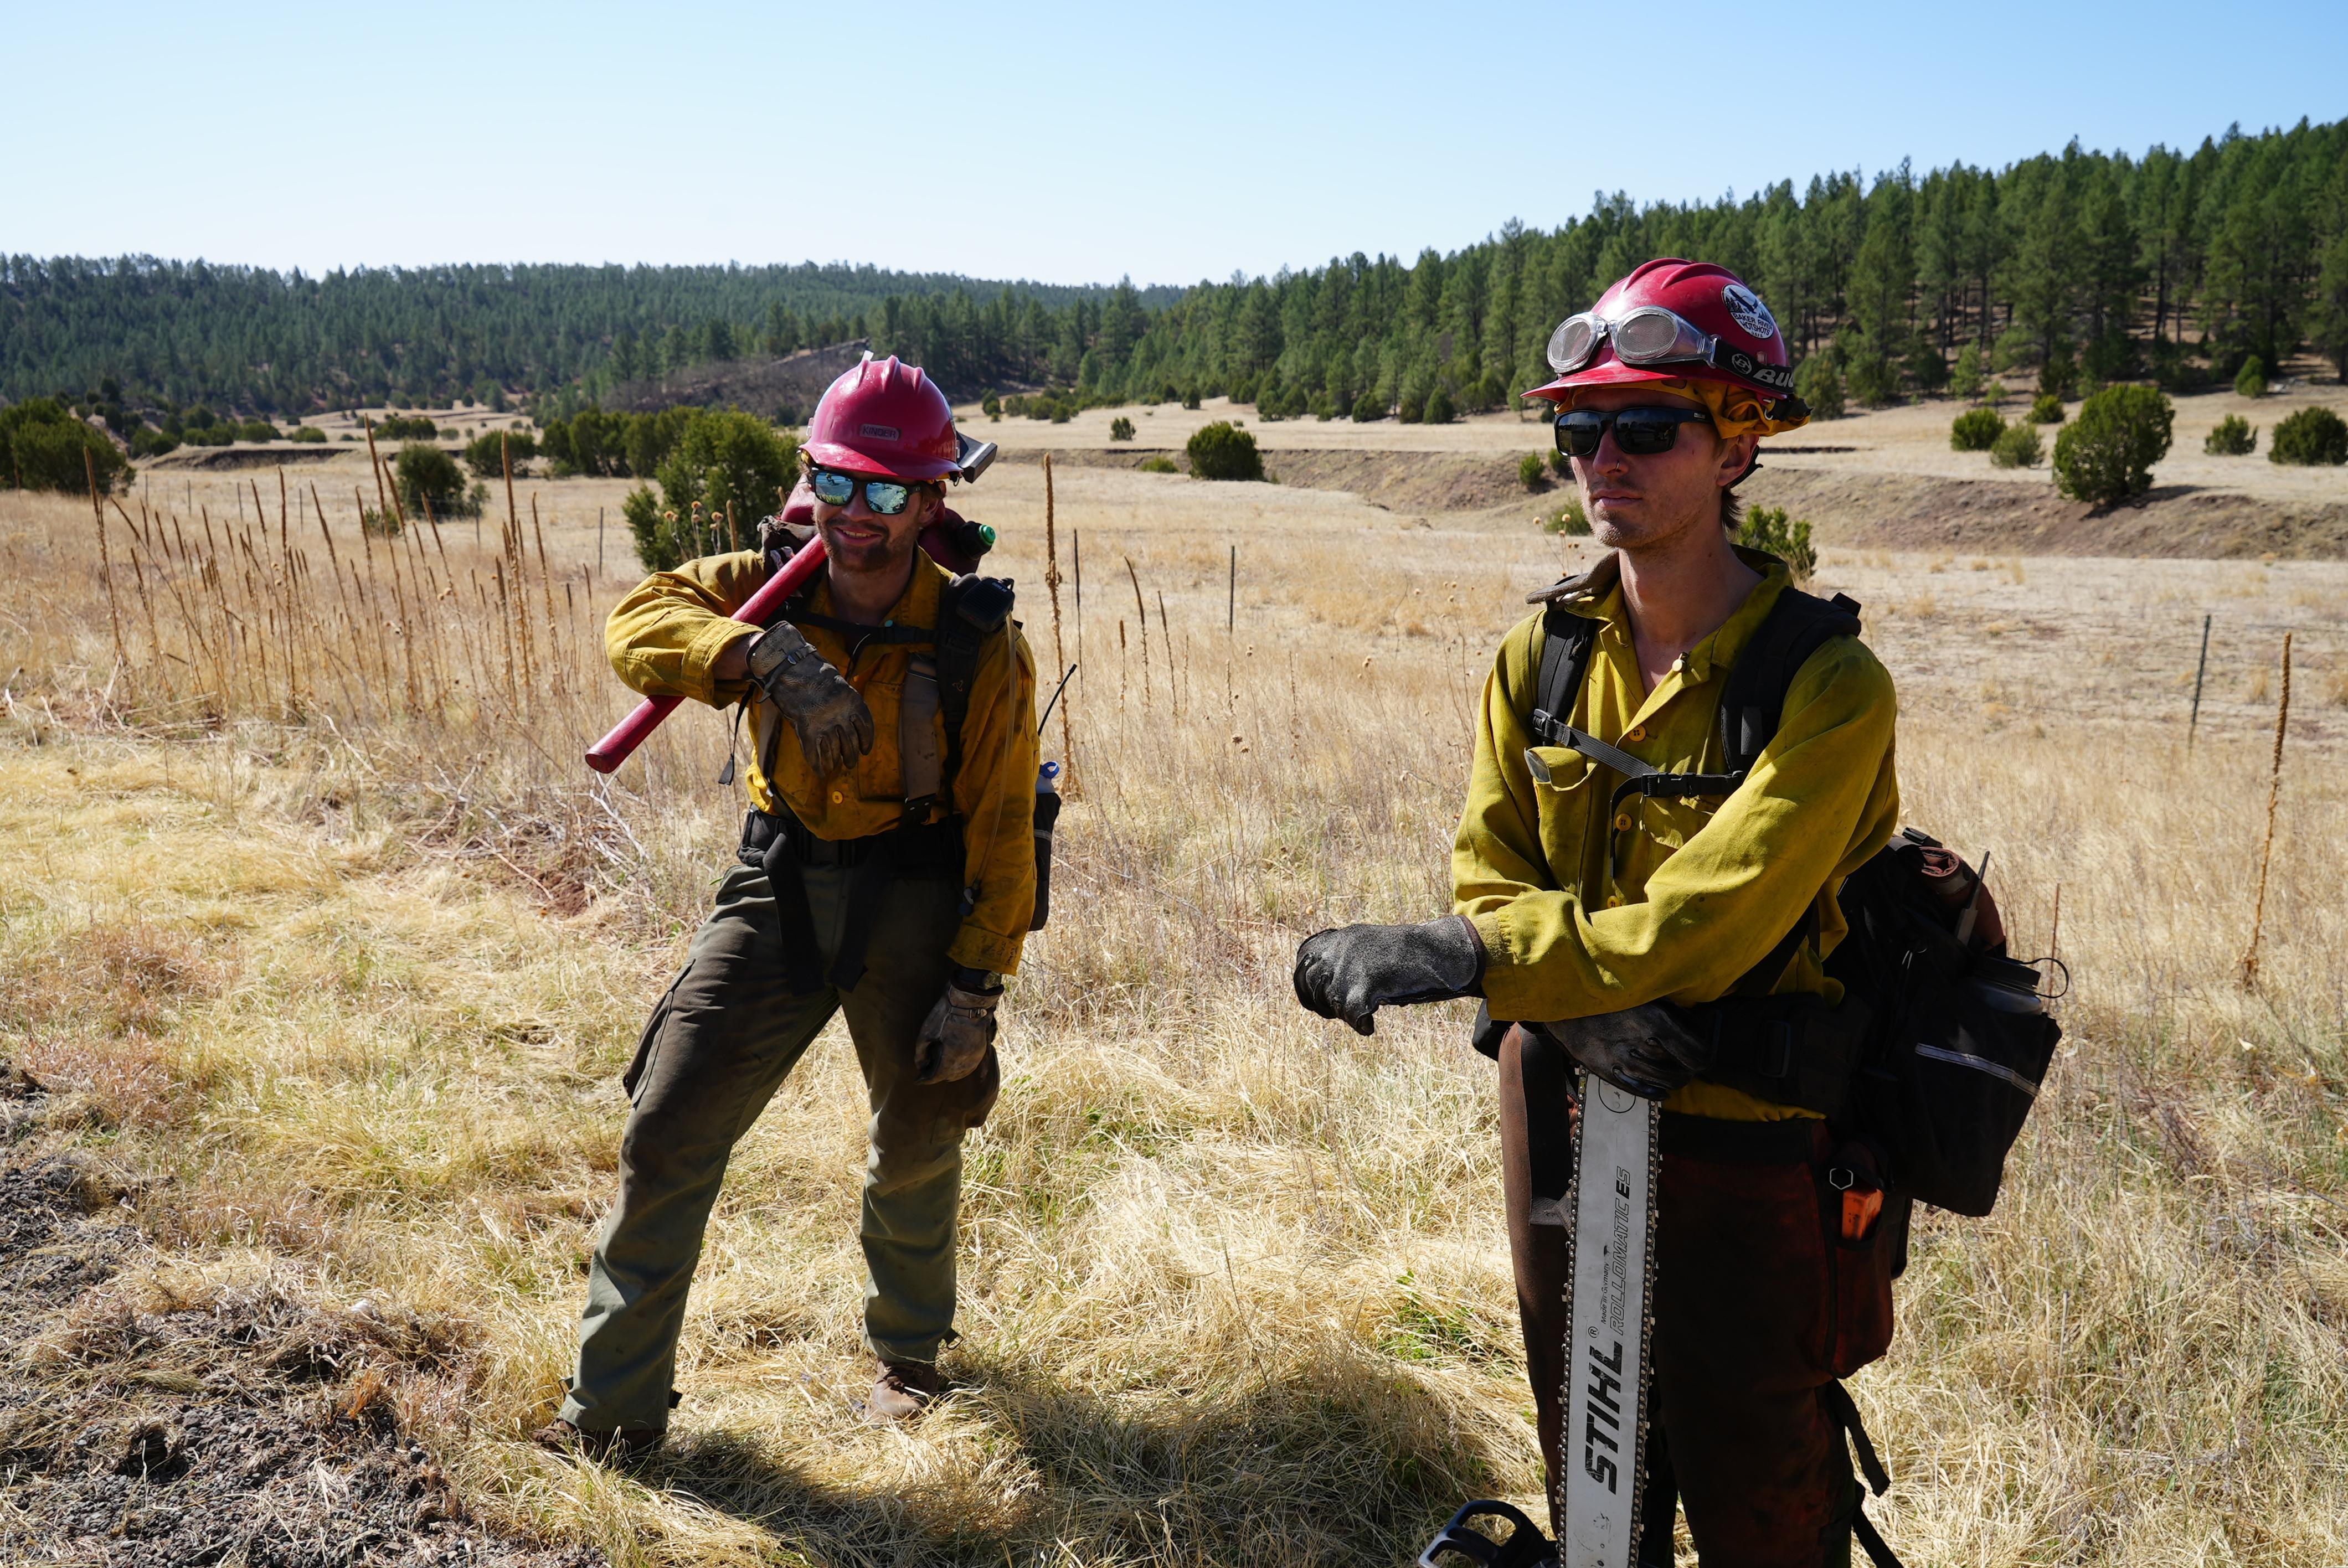
[[(1728, 667), (1789, 587), (1773, 556), (1740, 552), (1766, 577), (1719, 631), (1646, 690), (1622, 610), (1620, 568), (1599, 561), (1566, 610), (1601, 624), (1573, 702), (1573, 728), (1665, 772), (1719, 772), (1716, 725)], [(1658, 998), (1695, 1005), (1723, 995), (1803, 911), (1817, 937), (1787, 965), (1780, 993), (1829, 1002), (1841, 986), (1824, 955), (1843, 939), (1834, 901), (1843, 878), (1881, 850), (1900, 817), (1892, 770), (1892, 678), (1855, 638), (1813, 653), (1787, 692), (1777, 737), (1728, 798), (1648, 800), (1608, 810), (1611, 768), (1564, 746), (1538, 746), (1550, 784), (1524, 751), (1540, 678), (1540, 615), (1500, 643), (1477, 718), (1475, 775), (1451, 850), (1458, 913), (1489, 951), (1484, 995), (1496, 1019), (1559, 1021)], [(1693, 1082), (1667, 1110), (1770, 1122), (1813, 1115), (1726, 1084)]]

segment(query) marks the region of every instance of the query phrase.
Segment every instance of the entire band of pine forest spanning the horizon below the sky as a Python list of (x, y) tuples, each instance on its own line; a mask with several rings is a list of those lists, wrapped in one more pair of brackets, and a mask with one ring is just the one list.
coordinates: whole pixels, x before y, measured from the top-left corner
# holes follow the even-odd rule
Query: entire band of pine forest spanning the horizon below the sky
[[(0, 263), (0, 394), (209, 399), (247, 413), (552, 397), (871, 336), (949, 390), (1099, 404), (1230, 392), (1268, 413), (1500, 404), (1550, 329), (1648, 256), (1742, 272), (1806, 390), (1881, 404), (1951, 376), (2184, 387), (2259, 357), (2348, 371), (2348, 122), (2141, 157), (2076, 143), (1998, 171), (1907, 164), (1709, 204), (1597, 200), (1416, 263), (1052, 289), (871, 268), (432, 268), (282, 277), (202, 263)], [(1968, 352), (1970, 345), (1970, 352)], [(87, 401), (87, 399), (85, 399)], [(770, 411), (761, 411), (770, 413)]]

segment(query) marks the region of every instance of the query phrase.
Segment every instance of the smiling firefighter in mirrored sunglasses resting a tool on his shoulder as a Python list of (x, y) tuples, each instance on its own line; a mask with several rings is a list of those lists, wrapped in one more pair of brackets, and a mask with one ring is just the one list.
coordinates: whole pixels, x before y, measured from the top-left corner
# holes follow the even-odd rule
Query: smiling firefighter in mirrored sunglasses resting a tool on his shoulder
[(960, 1143), (996, 1103), (996, 1005), (1035, 908), (1035, 667), (1010, 584), (918, 547), (974, 451), (920, 369), (866, 357), (808, 425), (812, 589), (765, 629), (728, 620), (768, 575), (742, 552), (653, 573), (610, 615), (634, 690), (747, 699), (754, 810), (625, 1080), (620, 1197), (549, 1446), (657, 1446), (726, 1160), (836, 1012), (871, 1091), (866, 1411), (909, 1420), (939, 1390)]

